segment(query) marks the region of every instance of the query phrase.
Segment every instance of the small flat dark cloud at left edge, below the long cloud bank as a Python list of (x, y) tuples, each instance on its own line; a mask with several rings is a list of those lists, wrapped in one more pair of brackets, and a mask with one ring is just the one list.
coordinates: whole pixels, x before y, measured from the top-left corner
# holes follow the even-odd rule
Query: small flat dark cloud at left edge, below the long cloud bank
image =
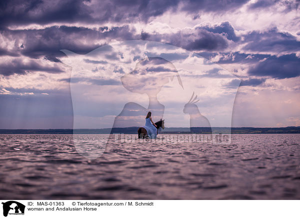
[(34, 60), (23, 62), (20, 59), (13, 59), (10, 62), (0, 63), (0, 74), (8, 76), (14, 73), (25, 74), (29, 71), (45, 71), (49, 73), (63, 72), (58, 66), (43, 66)]

